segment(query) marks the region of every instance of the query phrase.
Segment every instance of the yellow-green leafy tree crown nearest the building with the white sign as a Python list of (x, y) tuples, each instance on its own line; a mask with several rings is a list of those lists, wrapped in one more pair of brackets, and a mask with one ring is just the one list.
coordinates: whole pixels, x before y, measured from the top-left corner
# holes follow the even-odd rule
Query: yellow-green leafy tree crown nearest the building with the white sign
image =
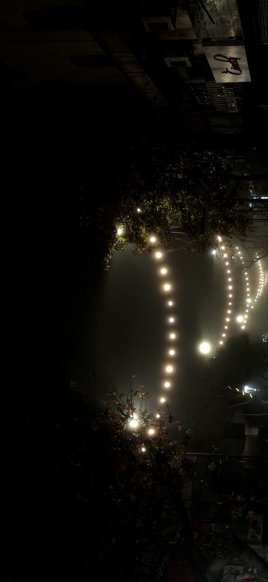
[[(170, 244), (172, 226), (181, 230), (189, 250), (202, 251), (216, 234), (246, 236), (251, 220), (230, 187), (232, 163), (230, 153), (200, 152), (194, 143), (181, 144), (175, 151), (143, 152), (120, 177), (110, 175), (105, 186), (83, 190), (74, 222), (91, 228), (94, 222), (101, 244), (105, 235), (106, 266), (112, 252), (128, 244), (134, 244), (137, 253), (150, 252), (152, 233)], [(122, 235), (117, 235), (119, 228)]]

